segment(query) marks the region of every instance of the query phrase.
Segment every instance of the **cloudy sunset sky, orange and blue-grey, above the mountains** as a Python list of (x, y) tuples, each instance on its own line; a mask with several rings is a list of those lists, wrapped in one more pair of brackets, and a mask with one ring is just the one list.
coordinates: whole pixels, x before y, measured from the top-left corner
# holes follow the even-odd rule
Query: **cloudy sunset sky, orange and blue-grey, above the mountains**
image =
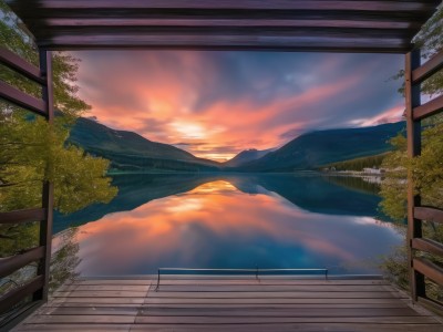
[(227, 160), (312, 131), (401, 120), (400, 54), (82, 51), (86, 116)]

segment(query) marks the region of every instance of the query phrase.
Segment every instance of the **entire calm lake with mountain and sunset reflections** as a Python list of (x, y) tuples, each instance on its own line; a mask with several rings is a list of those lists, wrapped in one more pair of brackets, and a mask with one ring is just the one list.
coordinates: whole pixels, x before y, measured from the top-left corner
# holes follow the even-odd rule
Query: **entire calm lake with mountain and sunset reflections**
[(83, 276), (256, 264), (372, 273), (402, 241), (378, 217), (375, 185), (359, 178), (132, 175), (114, 184), (111, 204), (56, 216), (56, 232), (78, 226), (64, 240)]

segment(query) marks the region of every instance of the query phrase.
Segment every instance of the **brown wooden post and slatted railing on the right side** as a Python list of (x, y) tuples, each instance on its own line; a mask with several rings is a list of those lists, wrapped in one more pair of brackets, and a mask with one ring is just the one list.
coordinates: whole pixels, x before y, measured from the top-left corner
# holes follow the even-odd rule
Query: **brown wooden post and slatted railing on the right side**
[[(405, 97), (408, 118), (408, 155), (421, 153), (421, 121), (443, 112), (443, 95), (421, 104), (421, 83), (443, 69), (443, 50), (421, 65), (420, 51), (406, 54)], [(408, 188), (408, 242), (411, 270), (411, 293), (414, 301), (422, 301), (443, 311), (443, 303), (426, 295), (425, 278), (443, 287), (443, 268), (420, 253), (426, 252), (443, 257), (443, 243), (423, 238), (423, 222), (443, 224), (443, 210), (421, 205), (421, 197), (414, 194), (412, 174), (409, 174)]]

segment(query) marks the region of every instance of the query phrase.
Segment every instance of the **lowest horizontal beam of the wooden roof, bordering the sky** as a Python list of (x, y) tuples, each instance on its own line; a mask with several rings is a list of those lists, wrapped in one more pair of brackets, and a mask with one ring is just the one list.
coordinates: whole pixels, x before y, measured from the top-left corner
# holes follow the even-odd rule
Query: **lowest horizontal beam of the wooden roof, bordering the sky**
[(184, 50), (281, 50), (281, 51), (356, 51), (399, 53), (411, 48), (402, 39), (291, 37), (291, 35), (163, 35), (103, 34), (54, 35), (40, 39), (47, 49), (184, 49)]

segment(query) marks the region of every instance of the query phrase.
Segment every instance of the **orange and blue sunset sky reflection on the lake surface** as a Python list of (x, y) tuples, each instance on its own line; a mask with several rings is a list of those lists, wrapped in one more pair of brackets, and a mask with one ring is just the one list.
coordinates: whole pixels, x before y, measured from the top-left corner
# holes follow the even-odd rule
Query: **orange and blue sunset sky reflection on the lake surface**
[(208, 181), (83, 225), (76, 235), (79, 272), (146, 273), (165, 264), (207, 268), (215, 261), (245, 268), (257, 258), (275, 263), (267, 261), (272, 255), (286, 267), (312, 268), (358, 261), (401, 240), (393, 227), (373, 218), (308, 212), (262, 187), (259, 191)]

